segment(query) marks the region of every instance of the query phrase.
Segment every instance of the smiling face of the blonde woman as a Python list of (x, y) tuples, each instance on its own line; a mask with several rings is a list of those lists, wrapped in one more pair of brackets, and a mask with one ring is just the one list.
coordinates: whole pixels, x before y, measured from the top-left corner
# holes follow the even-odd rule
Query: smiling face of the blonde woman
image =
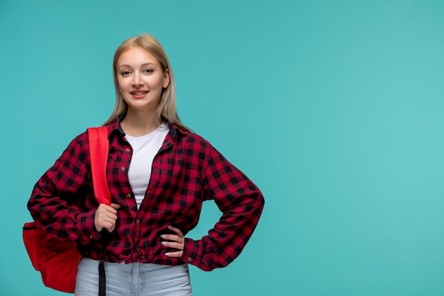
[(116, 76), (128, 111), (155, 112), (162, 89), (170, 83), (168, 70), (162, 70), (157, 58), (138, 46), (118, 57)]

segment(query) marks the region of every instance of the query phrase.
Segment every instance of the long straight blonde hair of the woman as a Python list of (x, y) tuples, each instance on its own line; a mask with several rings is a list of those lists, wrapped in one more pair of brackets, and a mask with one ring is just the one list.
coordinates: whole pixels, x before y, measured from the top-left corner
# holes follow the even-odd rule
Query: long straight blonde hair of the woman
[(128, 104), (123, 100), (121, 92), (119, 91), (118, 81), (117, 81), (117, 61), (118, 58), (121, 57), (122, 53), (126, 52), (126, 50), (130, 50), (131, 48), (140, 47), (144, 50), (148, 51), (148, 53), (154, 55), (160, 63), (160, 67), (162, 67), (162, 72), (165, 73), (168, 70), (170, 74), (170, 83), (167, 87), (162, 89), (162, 94), (160, 97), (160, 104), (157, 108), (157, 121), (162, 122), (163, 120), (169, 121), (171, 124), (175, 124), (181, 128), (188, 129), (186, 126), (182, 124), (177, 115), (176, 111), (176, 89), (174, 87), (174, 77), (172, 75), (172, 68), (170, 65), (170, 61), (168, 60), (167, 54), (165, 50), (160, 45), (159, 41), (157, 41), (154, 37), (148, 34), (142, 34), (137, 37), (129, 38), (117, 48), (116, 53), (114, 53), (113, 59), (113, 78), (114, 78), (114, 87), (116, 88), (116, 105), (114, 106), (114, 110), (109, 116), (109, 119), (104, 123), (104, 126), (111, 124), (113, 121), (116, 121), (119, 116), (126, 113), (128, 110)]

